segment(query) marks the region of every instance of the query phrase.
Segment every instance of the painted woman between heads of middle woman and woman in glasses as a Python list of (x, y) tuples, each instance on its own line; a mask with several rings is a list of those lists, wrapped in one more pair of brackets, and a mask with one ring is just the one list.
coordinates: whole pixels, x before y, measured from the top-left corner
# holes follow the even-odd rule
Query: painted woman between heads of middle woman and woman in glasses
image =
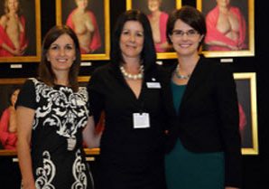
[(166, 23), (168, 14), (161, 11), (162, 0), (147, 0), (148, 9), (151, 14), (148, 14), (148, 19), (152, 26), (153, 41), (156, 52), (167, 52), (169, 43), (166, 40)]

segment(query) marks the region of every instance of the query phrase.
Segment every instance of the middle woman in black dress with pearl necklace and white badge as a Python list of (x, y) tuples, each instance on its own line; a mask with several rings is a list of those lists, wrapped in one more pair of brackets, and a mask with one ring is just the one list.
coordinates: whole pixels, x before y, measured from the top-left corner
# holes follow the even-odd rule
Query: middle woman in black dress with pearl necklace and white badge
[(106, 124), (100, 142), (99, 189), (163, 189), (165, 111), (151, 26), (129, 10), (116, 23), (111, 63), (94, 71), (90, 106)]

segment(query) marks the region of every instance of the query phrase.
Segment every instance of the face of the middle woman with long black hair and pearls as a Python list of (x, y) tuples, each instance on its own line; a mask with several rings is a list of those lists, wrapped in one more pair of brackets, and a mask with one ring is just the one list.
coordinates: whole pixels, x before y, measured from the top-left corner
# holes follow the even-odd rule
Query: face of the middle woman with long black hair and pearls
[(139, 58), (144, 46), (144, 29), (138, 21), (127, 21), (120, 35), (120, 49), (124, 59)]

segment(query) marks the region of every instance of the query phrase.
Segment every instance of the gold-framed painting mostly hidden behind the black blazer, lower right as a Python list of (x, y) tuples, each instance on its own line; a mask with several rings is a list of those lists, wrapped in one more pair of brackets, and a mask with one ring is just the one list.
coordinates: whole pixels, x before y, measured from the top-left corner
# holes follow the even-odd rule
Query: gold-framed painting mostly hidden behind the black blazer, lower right
[(237, 84), (239, 129), (243, 155), (258, 154), (255, 72), (234, 73)]

